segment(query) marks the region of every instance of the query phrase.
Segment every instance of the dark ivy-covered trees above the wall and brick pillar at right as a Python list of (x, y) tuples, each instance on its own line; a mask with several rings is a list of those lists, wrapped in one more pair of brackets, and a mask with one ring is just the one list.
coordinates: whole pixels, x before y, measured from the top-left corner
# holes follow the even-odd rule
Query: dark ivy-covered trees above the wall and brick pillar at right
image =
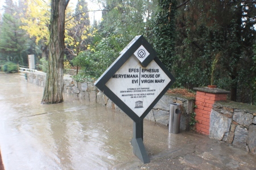
[(192, 89), (213, 82), (231, 91), (230, 100), (254, 104), (256, 6), (220, 0), (158, 4), (152, 43), (176, 78), (172, 87)]

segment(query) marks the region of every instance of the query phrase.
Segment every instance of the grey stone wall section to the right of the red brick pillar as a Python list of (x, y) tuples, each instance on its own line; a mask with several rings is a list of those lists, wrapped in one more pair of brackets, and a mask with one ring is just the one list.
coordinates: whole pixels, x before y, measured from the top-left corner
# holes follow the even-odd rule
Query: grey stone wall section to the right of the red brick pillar
[(209, 138), (232, 143), (256, 154), (256, 106), (216, 101), (210, 114)]

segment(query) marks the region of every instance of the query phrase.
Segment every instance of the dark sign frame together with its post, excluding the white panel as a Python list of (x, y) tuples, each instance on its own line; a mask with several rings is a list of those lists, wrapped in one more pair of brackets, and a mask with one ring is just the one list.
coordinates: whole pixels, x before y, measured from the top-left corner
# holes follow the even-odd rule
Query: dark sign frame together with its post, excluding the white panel
[[(123, 64), (138, 50), (138, 48), (143, 45), (144, 49), (147, 50), (149, 55), (142, 61), (142, 67), (147, 67), (148, 64), (154, 60), (160, 69), (170, 78), (170, 82), (163, 88), (160, 94), (155, 98), (154, 101), (149, 105), (149, 107), (144, 111), (139, 117), (130, 107), (128, 107), (117, 95), (114, 94), (112, 90), (110, 90), (106, 83), (112, 78), (112, 76), (123, 66)], [(139, 57), (144, 57), (145, 53), (139, 53)], [(105, 71), (104, 74), (95, 82), (95, 86), (100, 89), (110, 100), (112, 100), (123, 112), (125, 112), (133, 121), (133, 139), (131, 139), (131, 145), (133, 146), (133, 152), (143, 163), (150, 162), (148, 158), (146, 149), (143, 144), (143, 119), (147, 116), (147, 114), (151, 111), (151, 109), (155, 106), (155, 104), (161, 99), (161, 97), (166, 93), (169, 87), (175, 82), (174, 76), (170, 73), (170, 71), (163, 65), (160, 59), (157, 56), (157, 53), (152, 48), (152, 46), (147, 42), (144, 37), (136, 36), (125, 49), (122, 50), (121, 55), (112, 63), (112, 65)], [(117, 84), (118, 86), (118, 84)], [(138, 107), (140, 104), (138, 101)]]

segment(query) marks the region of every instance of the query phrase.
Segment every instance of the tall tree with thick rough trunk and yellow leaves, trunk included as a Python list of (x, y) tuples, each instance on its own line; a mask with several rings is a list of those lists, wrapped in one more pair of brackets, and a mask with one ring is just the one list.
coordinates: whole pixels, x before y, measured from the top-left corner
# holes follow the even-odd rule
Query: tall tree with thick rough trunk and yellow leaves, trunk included
[[(79, 53), (82, 42), (92, 35), (88, 32), (89, 24), (77, 27), (77, 25), (81, 26), (81, 21), (86, 19), (82, 19), (79, 16), (80, 14), (72, 17), (71, 8), (67, 8), (68, 2), (69, 0), (51, 0), (51, 8), (47, 1), (35, 0), (28, 2), (27, 16), (23, 18), (23, 22), (27, 23), (23, 29), (26, 29), (30, 36), (36, 37), (37, 43), (43, 41), (46, 46), (49, 46), (47, 80), (42, 99), (43, 104), (61, 103), (63, 101), (65, 41), (68, 44), (66, 46), (73, 46), (73, 51)], [(79, 7), (82, 10), (82, 6)], [(65, 12), (69, 15), (65, 15)], [(84, 13), (86, 12), (81, 12), (81, 15)], [(69, 18), (67, 23), (65, 23), (65, 16)], [(80, 18), (80, 20), (75, 20), (77, 18)], [(64, 29), (65, 25), (67, 31)], [(65, 33), (67, 35), (66, 39)]]

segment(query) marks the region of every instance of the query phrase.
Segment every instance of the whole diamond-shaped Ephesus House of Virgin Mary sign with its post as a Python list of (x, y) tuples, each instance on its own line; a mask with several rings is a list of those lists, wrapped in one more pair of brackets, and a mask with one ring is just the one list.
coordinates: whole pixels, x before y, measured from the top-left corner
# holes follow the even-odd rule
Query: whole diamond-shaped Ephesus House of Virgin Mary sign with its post
[(175, 82), (156, 55), (143, 36), (136, 36), (94, 83), (134, 121), (131, 145), (143, 163), (150, 162), (143, 144), (143, 119)]

